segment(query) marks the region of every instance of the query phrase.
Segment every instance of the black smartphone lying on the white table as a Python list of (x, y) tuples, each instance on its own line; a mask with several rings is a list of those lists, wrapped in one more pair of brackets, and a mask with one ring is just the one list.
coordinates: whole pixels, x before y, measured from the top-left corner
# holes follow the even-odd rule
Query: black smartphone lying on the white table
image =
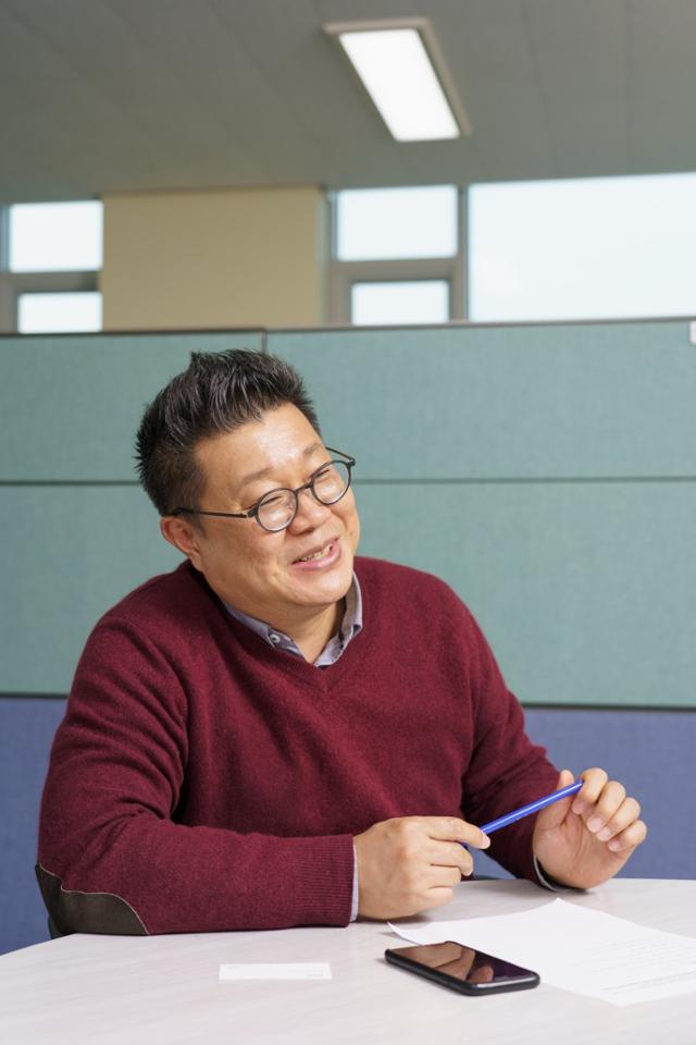
[(539, 984), (538, 973), (531, 969), (522, 969), (511, 961), (451, 941), (385, 950), (384, 957), (399, 969), (407, 969), (460, 994), (482, 996), (499, 991), (526, 991)]

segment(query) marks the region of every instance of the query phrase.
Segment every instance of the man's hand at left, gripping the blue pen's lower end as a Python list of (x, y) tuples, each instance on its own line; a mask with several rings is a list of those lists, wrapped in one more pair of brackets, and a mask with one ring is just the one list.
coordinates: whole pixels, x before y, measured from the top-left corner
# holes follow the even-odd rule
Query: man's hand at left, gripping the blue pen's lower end
[(356, 836), (358, 913), (402, 918), (452, 898), (462, 875), (473, 871), (461, 843), (486, 849), (490, 841), (456, 816), (399, 816)]

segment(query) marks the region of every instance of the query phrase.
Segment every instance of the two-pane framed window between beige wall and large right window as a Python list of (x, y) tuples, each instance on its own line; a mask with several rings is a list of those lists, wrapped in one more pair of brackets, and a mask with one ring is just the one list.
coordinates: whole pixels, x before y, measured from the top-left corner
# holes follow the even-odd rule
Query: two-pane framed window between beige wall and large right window
[(463, 318), (461, 193), (347, 189), (332, 199), (330, 318), (365, 324)]

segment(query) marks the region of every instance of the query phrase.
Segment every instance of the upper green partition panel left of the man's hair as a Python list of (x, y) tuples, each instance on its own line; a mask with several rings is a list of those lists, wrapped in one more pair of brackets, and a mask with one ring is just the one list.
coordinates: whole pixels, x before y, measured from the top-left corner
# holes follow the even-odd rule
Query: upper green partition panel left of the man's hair
[(132, 481), (144, 407), (191, 352), (260, 331), (0, 337), (0, 481)]

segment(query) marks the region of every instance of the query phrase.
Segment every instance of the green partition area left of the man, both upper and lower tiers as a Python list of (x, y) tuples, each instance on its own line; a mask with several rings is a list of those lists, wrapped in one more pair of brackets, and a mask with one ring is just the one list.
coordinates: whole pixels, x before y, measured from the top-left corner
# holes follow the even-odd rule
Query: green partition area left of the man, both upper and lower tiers
[(263, 331), (0, 337), (0, 693), (64, 693), (90, 629), (181, 556), (137, 483), (145, 404)]

